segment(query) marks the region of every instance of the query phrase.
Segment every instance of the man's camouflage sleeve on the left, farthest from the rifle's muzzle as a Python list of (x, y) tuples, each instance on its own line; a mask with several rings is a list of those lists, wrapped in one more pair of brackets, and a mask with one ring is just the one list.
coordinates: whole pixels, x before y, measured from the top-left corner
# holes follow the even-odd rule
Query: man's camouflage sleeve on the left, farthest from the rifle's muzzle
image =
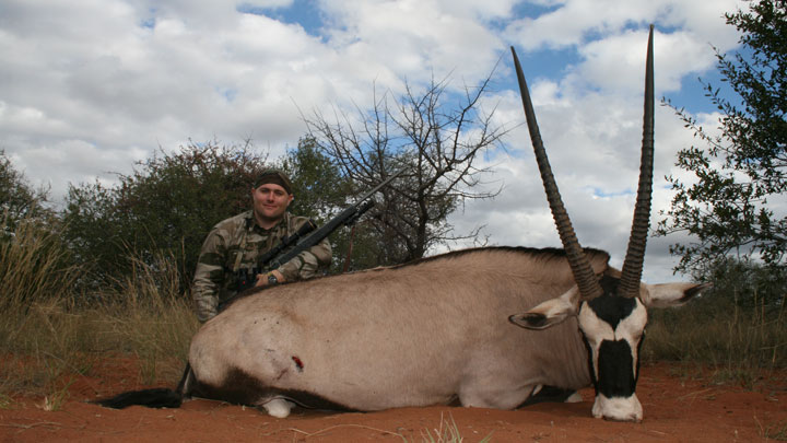
[(224, 255), (226, 241), (221, 231), (214, 229), (208, 234), (197, 261), (191, 285), (197, 318), (204, 323), (218, 313), (219, 291), (224, 282)]

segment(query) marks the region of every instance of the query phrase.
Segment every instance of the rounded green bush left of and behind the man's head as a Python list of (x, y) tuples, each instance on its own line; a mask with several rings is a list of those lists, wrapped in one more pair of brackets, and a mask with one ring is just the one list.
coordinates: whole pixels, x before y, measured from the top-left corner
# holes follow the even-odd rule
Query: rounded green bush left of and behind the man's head
[(249, 143), (191, 142), (140, 162), (117, 186), (72, 186), (61, 217), (77, 263), (90, 271), (84, 289), (111, 287), (129, 276), (133, 258), (152, 265), (158, 254), (175, 259), (188, 288), (208, 232), (249, 209), (266, 160)]

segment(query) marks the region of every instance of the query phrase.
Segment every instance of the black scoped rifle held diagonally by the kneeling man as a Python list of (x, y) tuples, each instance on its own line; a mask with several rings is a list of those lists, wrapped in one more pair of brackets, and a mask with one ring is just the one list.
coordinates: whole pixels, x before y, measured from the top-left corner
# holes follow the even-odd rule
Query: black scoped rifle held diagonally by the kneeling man
[[(257, 275), (262, 272), (262, 269), (275, 269), (280, 267), (282, 264), (285, 264), (293, 258), (295, 258), (298, 254), (303, 253), (304, 250), (310, 248), (312, 246), (315, 246), (322, 240), (325, 240), (328, 235), (333, 233), (337, 229), (339, 229), (342, 225), (349, 226), (353, 223), (355, 223), (361, 215), (363, 215), (364, 212), (372, 209), (374, 206), (374, 200), (368, 200), (369, 197), (372, 197), (375, 193), (377, 193), (379, 189), (381, 189), (384, 186), (389, 184), (393, 178), (398, 177), (404, 170), (400, 170), (393, 175), (389, 176), (387, 179), (385, 179), (379, 185), (375, 186), (369, 190), (368, 193), (364, 194), (361, 198), (355, 200), (353, 205), (344, 209), (339, 213), (339, 215), (332, 218), (328, 223), (322, 225), (320, 229), (313, 231), (315, 229), (314, 223), (309, 220), (308, 223), (304, 224), (297, 233), (291, 235), (290, 237), (286, 237), (286, 245), (284, 242), (277, 246), (273, 250), (271, 249), (268, 252), (262, 259), (260, 260), (259, 267), (252, 268), (252, 269), (242, 269), (239, 270), (238, 275), (236, 276), (238, 279), (238, 293), (243, 292), (246, 289), (254, 288), (255, 284), (257, 284)], [(368, 201), (366, 201), (368, 200)], [(310, 229), (306, 229), (307, 226), (310, 226)], [(301, 232), (305, 231), (305, 232)], [(313, 232), (312, 232), (313, 231)], [(309, 233), (310, 232), (310, 233)], [(297, 241), (302, 235), (308, 234), (305, 238), (301, 240), (293, 246), (290, 250), (287, 250), (284, 254), (279, 255), (279, 253), (283, 249), (285, 249), (290, 244), (293, 243), (293, 241)], [(297, 234), (297, 237), (296, 237)], [(294, 237), (294, 238), (293, 238)], [(230, 300), (234, 299), (230, 298)], [(230, 302), (230, 300), (226, 300), (222, 305), (225, 305), (226, 302)], [(222, 306), (220, 306), (219, 311), (222, 310)]]

